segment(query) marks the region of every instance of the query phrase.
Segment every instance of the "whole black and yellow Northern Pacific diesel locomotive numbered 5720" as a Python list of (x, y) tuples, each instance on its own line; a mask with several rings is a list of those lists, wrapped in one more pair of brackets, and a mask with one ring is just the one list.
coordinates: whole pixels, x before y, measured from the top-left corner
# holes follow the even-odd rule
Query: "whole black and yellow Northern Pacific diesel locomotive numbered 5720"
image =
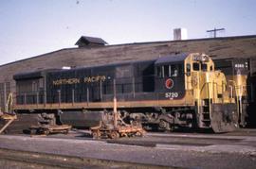
[(238, 123), (235, 86), (215, 70), (209, 56), (175, 54), (69, 70), (20, 73), (17, 114), (73, 127), (93, 127), (93, 112), (113, 110), (146, 129), (210, 128), (234, 130)]

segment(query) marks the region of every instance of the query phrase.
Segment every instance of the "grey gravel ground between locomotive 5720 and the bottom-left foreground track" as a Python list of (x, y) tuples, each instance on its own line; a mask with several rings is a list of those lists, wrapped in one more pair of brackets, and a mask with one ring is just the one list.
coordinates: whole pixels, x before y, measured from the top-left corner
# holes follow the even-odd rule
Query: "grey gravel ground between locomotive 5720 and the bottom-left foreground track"
[[(83, 140), (75, 134), (60, 137), (1, 135), (0, 148), (186, 168), (256, 168), (256, 136), (214, 135), (214, 142), (202, 144), (210, 137), (203, 134), (149, 134), (145, 138), (129, 140), (135, 144), (139, 140), (153, 143), (151, 146), (138, 146)], [(196, 138), (202, 140), (196, 141)], [(181, 141), (186, 144), (178, 144)], [(201, 144), (194, 144), (196, 142)]]

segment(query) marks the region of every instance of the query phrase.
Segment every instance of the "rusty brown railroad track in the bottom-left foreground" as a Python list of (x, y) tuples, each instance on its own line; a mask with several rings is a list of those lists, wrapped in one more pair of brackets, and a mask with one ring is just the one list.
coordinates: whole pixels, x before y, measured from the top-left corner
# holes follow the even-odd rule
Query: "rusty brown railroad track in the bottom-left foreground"
[[(36, 153), (0, 148), (0, 165), (6, 168), (141, 168), (165, 169), (175, 168), (153, 164), (142, 164), (122, 161), (107, 161), (100, 159), (61, 156), (56, 154)], [(9, 165), (9, 166), (8, 166)]]

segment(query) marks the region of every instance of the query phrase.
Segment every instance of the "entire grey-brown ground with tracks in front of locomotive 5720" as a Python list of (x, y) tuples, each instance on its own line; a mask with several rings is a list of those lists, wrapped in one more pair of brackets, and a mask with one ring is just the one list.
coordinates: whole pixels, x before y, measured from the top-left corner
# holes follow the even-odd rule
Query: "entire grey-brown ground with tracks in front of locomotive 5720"
[(53, 168), (233, 169), (256, 166), (255, 129), (227, 134), (148, 133), (143, 138), (119, 140), (92, 140), (86, 133), (80, 130), (48, 137), (0, 135), (0, 164), (8, 166), (8, 161), (16, 161), (19, 166), (21, 161), (33, 165), (41, 162), (41, 168), (46, 166), (42, 161), (55, 164), (50, 165)]

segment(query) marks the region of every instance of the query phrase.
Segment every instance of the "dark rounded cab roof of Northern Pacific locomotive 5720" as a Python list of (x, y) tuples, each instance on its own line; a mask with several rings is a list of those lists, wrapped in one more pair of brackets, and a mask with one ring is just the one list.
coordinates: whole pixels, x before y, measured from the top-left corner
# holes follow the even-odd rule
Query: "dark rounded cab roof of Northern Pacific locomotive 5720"
[(167, 55), (164, 57), (161, 57), (155, 61), (155, 64), (163, 64), (166, 62), (178, 62), (183, 61), (189, 56), (187, 53), (181, 53), (181, 54), (173, 54), (173, 55)]

